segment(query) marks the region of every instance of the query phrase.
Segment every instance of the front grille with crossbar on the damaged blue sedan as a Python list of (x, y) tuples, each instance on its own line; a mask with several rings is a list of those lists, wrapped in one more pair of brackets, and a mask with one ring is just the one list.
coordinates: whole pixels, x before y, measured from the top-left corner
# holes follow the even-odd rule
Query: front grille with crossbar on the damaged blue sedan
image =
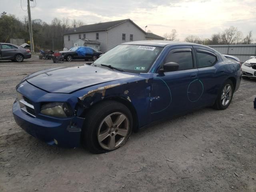
[(17, 92), (17, 97), (20, 104), (20, 109), (29, 116), (36, 117), (32, 101), (19, 92)]

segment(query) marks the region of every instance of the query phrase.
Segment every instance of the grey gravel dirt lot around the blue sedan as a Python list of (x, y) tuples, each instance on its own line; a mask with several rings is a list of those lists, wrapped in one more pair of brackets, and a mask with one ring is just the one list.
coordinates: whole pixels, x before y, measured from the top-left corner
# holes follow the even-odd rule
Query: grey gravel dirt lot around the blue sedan
[(48, 146), (15, 124), (15, 86), (24, 78), (16, 74), (84, 63), (0, 62), (0, 191), (256, 191), (256, 80), (242, 80), (224, 111), (172, 118), (107, 154)]

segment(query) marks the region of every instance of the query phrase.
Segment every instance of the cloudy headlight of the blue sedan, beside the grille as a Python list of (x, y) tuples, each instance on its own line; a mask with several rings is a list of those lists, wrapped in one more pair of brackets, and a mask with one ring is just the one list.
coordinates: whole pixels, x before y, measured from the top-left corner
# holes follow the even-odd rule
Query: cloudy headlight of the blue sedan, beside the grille
[(64, 102), (47, 103), (41, 106), (41, 113), (52, 117), (67, 118), (73, 115), (69, 104)]

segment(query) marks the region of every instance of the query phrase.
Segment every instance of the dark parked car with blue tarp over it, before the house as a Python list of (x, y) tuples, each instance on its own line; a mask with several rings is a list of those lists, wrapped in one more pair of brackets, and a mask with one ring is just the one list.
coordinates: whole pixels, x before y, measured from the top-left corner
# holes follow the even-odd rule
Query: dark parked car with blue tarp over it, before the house
[(66, 61), (72, 60), (93, 60), (96, 61), (102, 52), (96, 51), (91, 47), (72, 47), (68, 51), (60, 51)]

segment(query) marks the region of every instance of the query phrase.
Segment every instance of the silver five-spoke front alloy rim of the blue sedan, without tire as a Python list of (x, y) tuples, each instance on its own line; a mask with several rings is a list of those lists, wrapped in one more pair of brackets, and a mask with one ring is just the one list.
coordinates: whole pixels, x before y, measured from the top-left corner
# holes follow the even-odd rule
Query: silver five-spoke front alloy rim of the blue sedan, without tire
[(100, 123), (98, 142), (105, 150), (114, 150), (122, 145), (129, 132), (129, 120), (121, 112), (114, 112)]

